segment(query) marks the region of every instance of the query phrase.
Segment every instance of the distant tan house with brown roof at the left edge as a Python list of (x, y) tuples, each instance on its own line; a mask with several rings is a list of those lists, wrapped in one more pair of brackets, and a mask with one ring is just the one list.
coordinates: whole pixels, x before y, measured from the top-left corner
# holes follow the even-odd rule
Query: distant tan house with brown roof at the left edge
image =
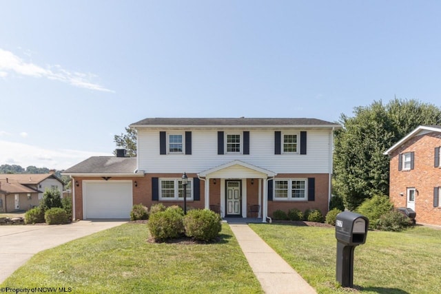
[(39, 205), (50, 188), (63, 191), (63, 182), (54, 174), (0, 174), (0, 212), (26, 211)]

